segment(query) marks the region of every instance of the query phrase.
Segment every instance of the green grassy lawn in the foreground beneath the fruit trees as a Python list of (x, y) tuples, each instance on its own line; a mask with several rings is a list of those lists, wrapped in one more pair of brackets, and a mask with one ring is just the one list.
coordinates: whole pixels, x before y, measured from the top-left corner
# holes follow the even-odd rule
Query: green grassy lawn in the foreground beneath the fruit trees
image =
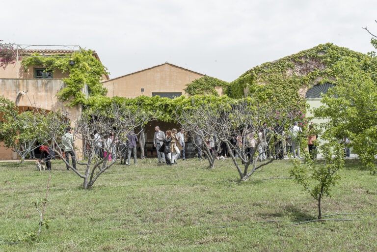
[[(37, 231), (32, 199), (46, 195), (52, 221), (39, 240), (0, 245), (0, 251), (377, 251), (377, 176), (346, 161), (333, 197), (323, 200), (324, 218), (352, 219), (299, 225), (315, 218), (316, 201), (288, 177), (291, 164), (276, 161), (247, 182), (231, 160), (189, 160), (173, 167), (157, 160), (115, 165), (91, 190), (54, 161), (52, 172), (34, 163), (0, 163), (0, 239)], [(366, 215), (369, 214), (369, 215)], [(264, 222), (278, 220), (278, 222)]]

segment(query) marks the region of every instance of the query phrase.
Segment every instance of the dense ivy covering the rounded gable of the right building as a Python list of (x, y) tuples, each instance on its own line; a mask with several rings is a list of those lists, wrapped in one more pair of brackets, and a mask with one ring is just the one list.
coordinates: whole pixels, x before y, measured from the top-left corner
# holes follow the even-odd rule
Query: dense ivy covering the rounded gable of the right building
[[(362, 53), (339, 47), (332, 43), (320, 44), (297, 54), (256, 66), (232, 82), (225, 93), (232, 98), (240, 98), (244, 90), (257, 95), (262, 101), (281, 101), (285, 104), (303, 100), (299, 90), (315, 84), (334, 83), (333, 66), (343, 57), (365, 59)], [(372, 70), (375, 65), (366, 65)], [(303, 90), (304, 91), (304, 90)]]

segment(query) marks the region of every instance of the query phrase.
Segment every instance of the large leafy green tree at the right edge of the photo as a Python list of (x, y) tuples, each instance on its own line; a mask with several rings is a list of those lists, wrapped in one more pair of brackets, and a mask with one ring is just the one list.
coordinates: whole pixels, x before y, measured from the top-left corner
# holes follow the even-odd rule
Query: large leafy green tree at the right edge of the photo
[[(372, 67), (373, 66), (373, 67)], [(373, 173), (377, 165), (377, 58), (358, 61), (345, 57), (334, 66), (337, 81), (314, 110), (316, 117), (329, 118), (324, 137), (349, 138), (350, 146)]]

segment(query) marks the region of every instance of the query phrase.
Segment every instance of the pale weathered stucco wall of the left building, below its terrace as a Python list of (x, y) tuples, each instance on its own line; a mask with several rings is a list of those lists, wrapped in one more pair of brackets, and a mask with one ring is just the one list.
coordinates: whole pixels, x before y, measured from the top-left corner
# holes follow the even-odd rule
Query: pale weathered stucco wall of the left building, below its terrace
[[(58, 101), (56, 94), (64, 87), (64, 83), (55, 79), (0, 79), (0, 94), (18, 104), (19, 108), (34, 107), (52, 111), (63, 109), (70, 114), (69, 119), (74, 120), (81, 114), (81, 106), (69, 108), (64, 106), (67, 102)], [(17, 98), (19, 91), (28, 90), (24, 96)], [(1, 143), (0, 143), (1, 145)], [(82, 156), (82, 142), (75, 141), (75, 146), (80, 148), (78, 157)], [(18, 159), (10, 150), (0, 147), (0, 160)]]

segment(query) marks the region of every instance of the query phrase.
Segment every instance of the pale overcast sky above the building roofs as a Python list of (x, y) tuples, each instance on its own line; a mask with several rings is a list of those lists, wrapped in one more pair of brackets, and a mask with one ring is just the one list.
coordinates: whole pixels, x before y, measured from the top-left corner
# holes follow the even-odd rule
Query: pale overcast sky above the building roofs
[(168, 61), (224, 81), (318, 44), (366, 53), (377, 0), (6, 0), (0, 39), (95, 50), (110, 78)]

